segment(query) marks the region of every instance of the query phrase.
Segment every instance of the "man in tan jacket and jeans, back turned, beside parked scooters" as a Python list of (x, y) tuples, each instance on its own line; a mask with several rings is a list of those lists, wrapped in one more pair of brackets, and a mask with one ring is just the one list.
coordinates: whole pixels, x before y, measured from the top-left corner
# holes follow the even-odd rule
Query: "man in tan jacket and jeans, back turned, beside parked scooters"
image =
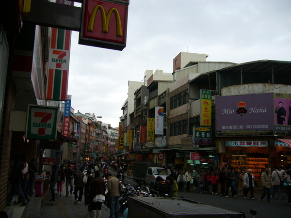
[(107, 174), (107, 188), (110, 201), (110, 218), (118, 218), (119, 214), (119, 179), (112, 176), (111, 173)]

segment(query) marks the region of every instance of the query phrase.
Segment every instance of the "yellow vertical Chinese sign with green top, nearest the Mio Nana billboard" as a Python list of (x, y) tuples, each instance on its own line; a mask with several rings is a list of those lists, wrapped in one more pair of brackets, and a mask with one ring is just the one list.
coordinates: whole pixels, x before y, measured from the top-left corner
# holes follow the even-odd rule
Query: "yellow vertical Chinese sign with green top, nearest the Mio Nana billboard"
[(200, 125), (211, 126), (211, 91), (200, 90), (201, 115)]

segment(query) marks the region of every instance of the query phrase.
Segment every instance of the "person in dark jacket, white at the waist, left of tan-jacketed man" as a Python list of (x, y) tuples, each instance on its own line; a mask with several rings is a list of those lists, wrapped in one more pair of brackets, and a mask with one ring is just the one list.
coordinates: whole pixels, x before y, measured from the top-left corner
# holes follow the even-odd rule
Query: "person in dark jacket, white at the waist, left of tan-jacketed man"
[(93, 218), (101, 218), (102, 203), (105, 202), (106, 185), (100, 177), (99, 171), (95, 171), (95, 178), (91, 185), (89, 198), (92, 201)]

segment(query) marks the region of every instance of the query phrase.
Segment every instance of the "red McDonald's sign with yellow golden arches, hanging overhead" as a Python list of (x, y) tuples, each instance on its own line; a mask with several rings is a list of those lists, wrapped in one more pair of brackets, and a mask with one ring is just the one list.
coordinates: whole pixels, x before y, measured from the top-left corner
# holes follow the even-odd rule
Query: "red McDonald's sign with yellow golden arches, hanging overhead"
[(123, 50), (128, 5), (127, 0), (83, 0), (79, 44)]

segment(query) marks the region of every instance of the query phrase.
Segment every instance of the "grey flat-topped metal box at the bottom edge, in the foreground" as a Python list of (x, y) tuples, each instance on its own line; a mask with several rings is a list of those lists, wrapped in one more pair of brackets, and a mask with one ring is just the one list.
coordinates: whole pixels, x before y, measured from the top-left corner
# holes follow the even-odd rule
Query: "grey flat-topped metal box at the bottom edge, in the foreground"
[(242, 215), (184, 198), (129, 198), (128, 218), (242, 218)]

